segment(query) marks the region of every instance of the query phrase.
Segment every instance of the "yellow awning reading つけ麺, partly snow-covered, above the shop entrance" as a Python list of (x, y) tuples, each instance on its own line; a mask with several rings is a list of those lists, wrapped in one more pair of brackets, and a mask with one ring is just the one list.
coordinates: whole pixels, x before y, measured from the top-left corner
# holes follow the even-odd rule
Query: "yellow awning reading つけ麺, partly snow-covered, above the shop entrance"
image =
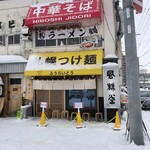
[(102, 74), (103, 50), (31, 54), (25, 76)]

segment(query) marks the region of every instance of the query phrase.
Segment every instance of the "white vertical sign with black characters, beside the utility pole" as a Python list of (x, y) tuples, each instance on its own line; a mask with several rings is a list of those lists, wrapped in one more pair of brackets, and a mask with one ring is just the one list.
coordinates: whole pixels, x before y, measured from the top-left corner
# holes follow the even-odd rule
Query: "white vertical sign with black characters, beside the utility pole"
[(120, 108), (119, 68), (116, 63), (103, 65), (104, 107)]

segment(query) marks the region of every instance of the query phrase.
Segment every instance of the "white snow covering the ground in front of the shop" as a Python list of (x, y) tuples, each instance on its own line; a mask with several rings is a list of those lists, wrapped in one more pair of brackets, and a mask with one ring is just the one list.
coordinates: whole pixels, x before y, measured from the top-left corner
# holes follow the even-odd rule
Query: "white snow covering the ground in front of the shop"
[[(150, 134), (150, 111), (142, 111)], [(127, 141), (126, 121), (121, 120), (121, 130), (114, 131), (114, 123), (83, 123), (49, 119), (47, 127), (37, 126), (40, 118), (0, 118), (0, 150), (149, 150), (150, 141), (145, 136), (144, 146)]]

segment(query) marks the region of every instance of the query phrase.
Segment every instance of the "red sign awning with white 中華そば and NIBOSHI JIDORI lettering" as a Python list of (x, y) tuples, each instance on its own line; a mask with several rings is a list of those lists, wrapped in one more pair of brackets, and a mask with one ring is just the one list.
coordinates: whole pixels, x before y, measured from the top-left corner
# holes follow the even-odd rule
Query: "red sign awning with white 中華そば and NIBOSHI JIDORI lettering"
[(90, 18), (101, 19), (101, 13), (101, 0), (36, 4), (30, 6), (25, 25), (33, 26)]

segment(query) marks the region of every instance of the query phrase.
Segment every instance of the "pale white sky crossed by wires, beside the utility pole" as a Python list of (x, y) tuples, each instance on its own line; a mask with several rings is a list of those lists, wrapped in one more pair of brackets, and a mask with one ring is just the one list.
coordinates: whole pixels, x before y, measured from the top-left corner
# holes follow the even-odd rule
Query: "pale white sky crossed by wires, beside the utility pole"
[[(150, 0), (143, 0), (143, 12), (141, 14), (135, 13), (134, 17), (140, 69), (150, 71)], [(122, 43), (124, 44), (124, 42)]]

